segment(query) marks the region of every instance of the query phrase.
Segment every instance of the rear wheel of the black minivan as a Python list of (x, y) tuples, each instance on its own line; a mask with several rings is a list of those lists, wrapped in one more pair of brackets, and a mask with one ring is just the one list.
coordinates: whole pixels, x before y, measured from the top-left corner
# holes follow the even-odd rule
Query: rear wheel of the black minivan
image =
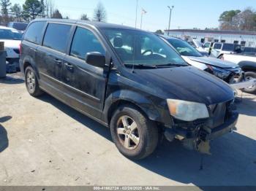
[(42, 90), (39, 88), (37, 75), (31, 66), (26, 67), (25, 70), (25, 82), (26, 89), (29, 94), (33, 97), (38, 97), (43, 94)]

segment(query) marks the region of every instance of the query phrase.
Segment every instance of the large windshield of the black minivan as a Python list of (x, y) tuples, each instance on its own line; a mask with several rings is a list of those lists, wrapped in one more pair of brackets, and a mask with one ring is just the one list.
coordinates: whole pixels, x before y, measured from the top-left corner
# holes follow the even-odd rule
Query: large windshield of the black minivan
[(173, 48), (154, 34), (116, 28), (105, 28), (103, 32), (124, 65), (187, 66)]

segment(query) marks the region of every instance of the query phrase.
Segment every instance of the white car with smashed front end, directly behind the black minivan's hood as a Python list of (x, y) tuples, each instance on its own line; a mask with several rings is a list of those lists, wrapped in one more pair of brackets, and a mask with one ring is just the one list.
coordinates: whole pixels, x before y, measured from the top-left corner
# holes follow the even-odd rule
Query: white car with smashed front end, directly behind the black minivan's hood
[(255, 81), (246, 82), (252, 78), (249, 79), (248, 77), (245, 77), (244, 71), (238, 64), (219, 60), (217, 58), (206, 57), (198, 52), (195, 47), (192, 47), (192, 45), (182, 39), (170, 36), (160, 37), (170, 43), (170, 45), (176, 49), (178, 53), (181, 54), (181, 57), (191, 66), (195, 66), (198, 69), (214, 74), (216, 77), (229, 83), (235, 89), (238, 88), (251, 93), (251, 91), (248, 91), (248, 88), (249, 90), (252, 90), (252, 87), (256, 86)]

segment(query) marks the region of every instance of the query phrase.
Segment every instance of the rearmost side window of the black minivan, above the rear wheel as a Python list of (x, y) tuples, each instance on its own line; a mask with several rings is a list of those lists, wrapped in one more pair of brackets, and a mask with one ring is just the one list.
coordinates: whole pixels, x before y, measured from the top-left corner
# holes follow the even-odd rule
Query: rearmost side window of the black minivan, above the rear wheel
[(42, 30), (44, 27), (45, 27), (45, 22), (31, 23), (28, 30), (26, 31), (24, 39), (29, 42), (39, 44), (42, 38)]

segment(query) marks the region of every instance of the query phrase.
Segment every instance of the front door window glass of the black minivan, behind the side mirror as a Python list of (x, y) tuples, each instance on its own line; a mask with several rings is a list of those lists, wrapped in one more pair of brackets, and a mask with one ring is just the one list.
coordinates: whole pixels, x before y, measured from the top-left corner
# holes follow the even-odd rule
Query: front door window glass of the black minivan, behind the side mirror
[(75, 58), (84, 59), (88, 52), (100, 52), (105, 55), (105, 50), (97, 37), (91, 31), (78, 27), (75, 31), (70, 55)]

